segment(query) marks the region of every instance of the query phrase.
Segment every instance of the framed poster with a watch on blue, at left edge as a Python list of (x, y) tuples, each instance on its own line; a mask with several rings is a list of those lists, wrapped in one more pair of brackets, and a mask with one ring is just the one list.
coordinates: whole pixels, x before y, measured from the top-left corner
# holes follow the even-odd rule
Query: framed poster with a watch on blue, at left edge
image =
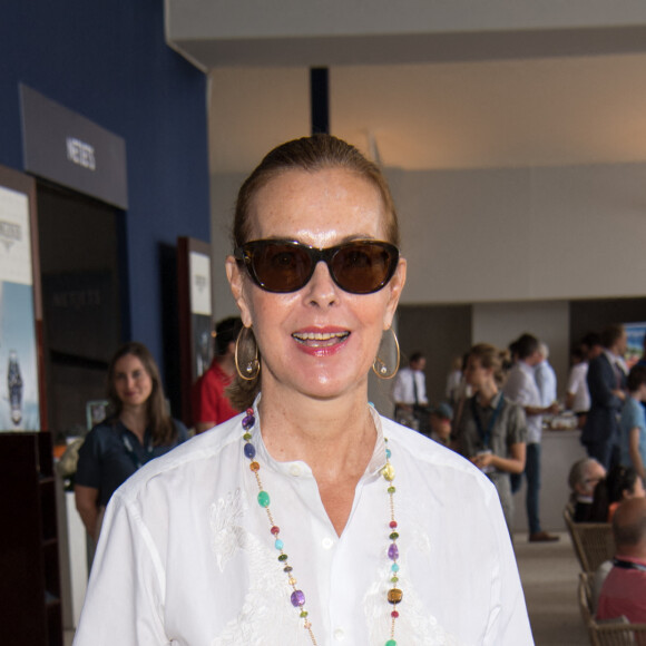
[(0, 431), (47, 427), (36, 184), (0, 166)]

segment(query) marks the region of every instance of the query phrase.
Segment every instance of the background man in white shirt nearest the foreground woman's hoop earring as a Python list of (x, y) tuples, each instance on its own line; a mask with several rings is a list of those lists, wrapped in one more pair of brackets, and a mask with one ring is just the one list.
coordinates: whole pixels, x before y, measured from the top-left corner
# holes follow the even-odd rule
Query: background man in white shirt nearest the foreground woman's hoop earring
[(427, 360), (421, 352), (413, 352), (409, 366), (402, 368), (394, 380), (392, 397), (394, 399), (394, 415), (400, 424), (427, 430), (428, 405), (427, 378), (424, 368)]

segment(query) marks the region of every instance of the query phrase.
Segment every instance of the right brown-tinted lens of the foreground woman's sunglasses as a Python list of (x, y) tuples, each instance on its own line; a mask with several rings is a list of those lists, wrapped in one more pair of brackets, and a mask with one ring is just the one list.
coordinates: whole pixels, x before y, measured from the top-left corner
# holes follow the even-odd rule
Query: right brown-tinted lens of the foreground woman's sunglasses
[(381, 290), (397, 267), (397, 247), (378, 242), (342, 246), (333, 256), (331, 271), (339, 286), (353, 294)]

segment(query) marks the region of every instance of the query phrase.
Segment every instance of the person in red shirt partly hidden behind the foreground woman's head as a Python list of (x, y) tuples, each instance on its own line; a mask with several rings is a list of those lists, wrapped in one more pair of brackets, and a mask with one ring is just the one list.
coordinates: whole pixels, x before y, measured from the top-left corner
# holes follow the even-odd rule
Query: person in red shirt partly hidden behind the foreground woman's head
[(215, 356), (208, 370), (193, 385), (193, 422), (202, 433), (237, 415), (225, 389), (235, 375), (235, 342), (242, 330), (239, 316), (231, 316), (215, 325)]

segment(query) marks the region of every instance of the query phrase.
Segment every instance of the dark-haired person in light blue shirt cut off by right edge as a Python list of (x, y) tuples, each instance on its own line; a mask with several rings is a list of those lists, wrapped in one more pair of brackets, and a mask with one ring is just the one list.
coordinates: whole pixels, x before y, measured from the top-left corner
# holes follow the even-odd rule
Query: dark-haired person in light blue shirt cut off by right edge
[(619, 420), (621, 464), (634, 467), (646, 481), (646, 365), (634, 365), (627, 380), (628, 397)]

